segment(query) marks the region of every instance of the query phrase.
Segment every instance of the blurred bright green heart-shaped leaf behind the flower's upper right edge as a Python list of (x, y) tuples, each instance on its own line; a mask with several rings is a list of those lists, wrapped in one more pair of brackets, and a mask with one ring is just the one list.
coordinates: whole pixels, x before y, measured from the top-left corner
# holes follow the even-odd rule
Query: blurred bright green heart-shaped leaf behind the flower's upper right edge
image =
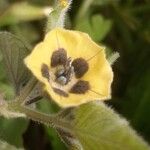
[(76, 29), (88, 33), (95, 41), (102, 41), (110, 31), (112, 22), (101, 15), (85, 17), (77, 23)]

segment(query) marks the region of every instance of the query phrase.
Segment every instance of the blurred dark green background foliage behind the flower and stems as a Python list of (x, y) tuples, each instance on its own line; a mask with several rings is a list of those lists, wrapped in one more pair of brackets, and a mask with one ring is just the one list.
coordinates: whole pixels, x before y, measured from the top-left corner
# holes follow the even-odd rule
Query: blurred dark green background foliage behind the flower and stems
[[(0, 0), (0, 31), (19, 36), (32, 49), (43, 39), (45, 11), (51, 0)], [(66, 16), (66, 28), (87, 32), (107, 47), (109, 56), (119, 52), (113, 65), (112, 99), (107, 102), (127, 118), (133, 128), (150, 142), (150, 1), (74, 0)], [(0, 92), (13, 97), (0, 55)], [(49, 102), (38, 103), (40, 110), (53, 113)], [(29, 150), (65, 150), (53, 129), (24, 119), (0, 118), (0, 138)]]

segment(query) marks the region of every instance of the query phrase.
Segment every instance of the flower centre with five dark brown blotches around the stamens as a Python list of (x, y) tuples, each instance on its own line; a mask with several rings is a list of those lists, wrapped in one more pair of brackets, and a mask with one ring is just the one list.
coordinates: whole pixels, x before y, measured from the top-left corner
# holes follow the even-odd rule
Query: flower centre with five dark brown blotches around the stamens
[(63, 48), (59, 48), (51, 56), (50, 69), (43, 64), (41, 72), (55, 93), (67, 97), (68, 93), (85, 94), (90, 89), (89, 82), (81, 79), (88, 69), (84, 58), (72, 60)]

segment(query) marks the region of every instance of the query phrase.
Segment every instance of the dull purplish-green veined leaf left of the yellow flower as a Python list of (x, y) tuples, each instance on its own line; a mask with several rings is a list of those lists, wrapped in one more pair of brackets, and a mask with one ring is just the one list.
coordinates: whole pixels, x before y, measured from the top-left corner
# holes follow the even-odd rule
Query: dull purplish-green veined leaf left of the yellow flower
[(23, 64), (23, 59), (29, 50), (21, 40), (11, 33), (0, 32), (0, 52), (8, 77), (15, 92), (19, 93), (21, 86), (29, 77), (29, 72)]

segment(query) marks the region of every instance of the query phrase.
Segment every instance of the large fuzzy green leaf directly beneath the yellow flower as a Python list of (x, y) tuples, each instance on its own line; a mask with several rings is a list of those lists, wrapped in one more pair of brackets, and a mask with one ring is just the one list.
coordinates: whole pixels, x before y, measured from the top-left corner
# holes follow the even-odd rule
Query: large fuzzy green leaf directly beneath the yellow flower
[[(64, 141), (72, 146), (72, 149), (150, 149), (147, 143), (129, 127), (126, 120), (120, 118), (102, 102), (81, 105), (72, 109), (72, 113), (74, 118), (69, 120), (70, 128), (62, 127), (61, 130), (58, 130)], [(65, 118), (63, 117), (64, 120)]]

